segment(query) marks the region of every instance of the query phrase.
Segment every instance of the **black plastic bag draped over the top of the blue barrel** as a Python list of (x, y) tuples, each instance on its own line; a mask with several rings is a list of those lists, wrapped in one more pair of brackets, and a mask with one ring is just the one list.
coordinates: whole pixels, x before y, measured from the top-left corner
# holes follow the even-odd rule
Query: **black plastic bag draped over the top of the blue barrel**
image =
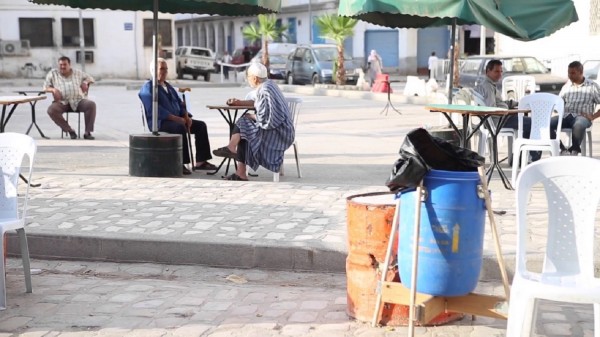
[(390, 191), (414, 188), (433, 170), (477, 171), (485, 158), (471, 150), (453, 145), (419, 128), (410, 131), (400, 147), (400, 158), (394, 163), (386, 181)]

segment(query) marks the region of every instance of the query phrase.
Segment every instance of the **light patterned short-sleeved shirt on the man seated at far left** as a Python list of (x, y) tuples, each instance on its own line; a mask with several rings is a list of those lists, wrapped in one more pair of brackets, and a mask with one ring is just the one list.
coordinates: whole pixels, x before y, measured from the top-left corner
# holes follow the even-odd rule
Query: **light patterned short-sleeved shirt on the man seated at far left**
[(58, 69), (52, 69), (46, 75), (44, 88), (57, 88), (62, 94), (60, 103), (69, 105), (73, 111), (77, 111), (77, 105), (86, 97), (81, 91), (82, 83), (94, 83), (94, 79), (78, 69), (71, 68), (69, 76), (63, 76)]

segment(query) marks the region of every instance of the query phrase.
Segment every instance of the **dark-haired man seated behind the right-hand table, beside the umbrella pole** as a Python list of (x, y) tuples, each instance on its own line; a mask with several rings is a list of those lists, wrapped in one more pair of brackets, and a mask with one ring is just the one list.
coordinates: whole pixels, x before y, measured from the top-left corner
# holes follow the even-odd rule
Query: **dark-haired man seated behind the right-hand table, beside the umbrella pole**
[[(486, 106), (497, 107), (508, 109), (508, 102), (502, 100), (502, 96), (496, 84), (502, 78), (502, 62), (500, 60), (490, 60), (485, 66), (485, 76), (477, 80), (475, 91), (479, 93)], [(512, 102), (514, 104), (514, 102)], [(513, 106), (510, 106), (513, 108)], [(495, 123), (498, 123), (498, 117), (492, 117)], [(511, 115), (506, 119), (504, 123), (505, 128), (515, 129), (519, 128), (519, 117), (517, 115)], [(529, 138), (531, 133), (531, 118), (523, 117), (523, 138)], [(531, 160), (539, 160), (542, 153), (540, 151), (531, 152)]]

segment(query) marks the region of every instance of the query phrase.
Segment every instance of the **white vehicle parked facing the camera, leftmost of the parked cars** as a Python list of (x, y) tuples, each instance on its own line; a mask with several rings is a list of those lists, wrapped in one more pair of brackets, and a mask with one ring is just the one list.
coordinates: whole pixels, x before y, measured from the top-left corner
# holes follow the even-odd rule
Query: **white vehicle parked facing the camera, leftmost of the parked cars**
[(193, 79), (204, 76), (206, 82), (210, 81), (210, 74), (215, 72), (215, 53), (202, 47), (181, 46), (175, 50), (177, 78), (183, 75), (192, 75)]

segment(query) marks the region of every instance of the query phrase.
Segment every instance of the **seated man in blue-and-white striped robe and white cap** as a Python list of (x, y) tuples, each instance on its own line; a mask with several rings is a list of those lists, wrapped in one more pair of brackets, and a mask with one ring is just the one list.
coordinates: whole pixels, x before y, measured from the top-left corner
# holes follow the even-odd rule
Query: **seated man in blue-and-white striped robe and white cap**
[(267, 79), (267, 68), (260, 63), (248, 67), (248, 83), (255, 88), (254, 100), (227, 100), (228, 105), (254, 106), (256, 114), (246, 113), (236, 121), (227, 146), (216, 149), (216, 156), (235, 158), (235, 173), (226, 180), (248, 180), (246, 166), (262, 166), (279, 172), (283, 154), (294, 142), (294, 124), (287, 101), (277, 84)]

